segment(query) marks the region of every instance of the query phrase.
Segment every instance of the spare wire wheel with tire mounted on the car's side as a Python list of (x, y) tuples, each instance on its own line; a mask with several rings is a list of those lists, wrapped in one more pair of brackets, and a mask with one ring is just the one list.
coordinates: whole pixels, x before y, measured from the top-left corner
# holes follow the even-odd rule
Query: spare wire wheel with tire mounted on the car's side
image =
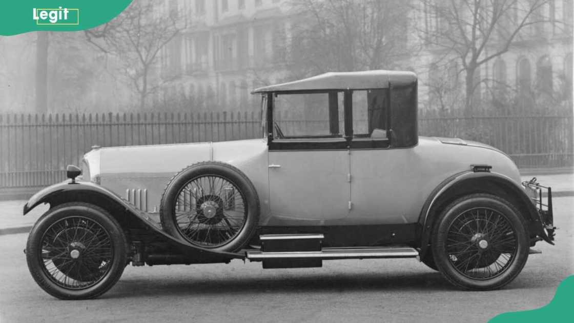
[(173, 236), (214, 251), (246, 245), (259, 223), (259, 197), (237, 168), (208, 161), (173, 176), (160, 206), (161, 225)]

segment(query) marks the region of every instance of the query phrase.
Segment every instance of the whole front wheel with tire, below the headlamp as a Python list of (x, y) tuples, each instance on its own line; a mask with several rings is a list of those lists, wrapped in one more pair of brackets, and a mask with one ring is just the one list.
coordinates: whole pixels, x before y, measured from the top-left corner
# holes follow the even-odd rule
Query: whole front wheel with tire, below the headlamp
[(106, 210), (65, 203), (44, 213), (26, 243), (26, 262), (36, 283), (60, 299), (89, 299), (106, 293), (122, 276), (127, 241)]

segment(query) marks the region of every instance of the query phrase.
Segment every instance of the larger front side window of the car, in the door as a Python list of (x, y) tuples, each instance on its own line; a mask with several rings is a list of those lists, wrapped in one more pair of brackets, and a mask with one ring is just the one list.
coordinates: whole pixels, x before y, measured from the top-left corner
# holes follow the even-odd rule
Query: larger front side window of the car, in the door
[(278, 94), (273, 120), (275, 139), (343, 137), (343, 92)]

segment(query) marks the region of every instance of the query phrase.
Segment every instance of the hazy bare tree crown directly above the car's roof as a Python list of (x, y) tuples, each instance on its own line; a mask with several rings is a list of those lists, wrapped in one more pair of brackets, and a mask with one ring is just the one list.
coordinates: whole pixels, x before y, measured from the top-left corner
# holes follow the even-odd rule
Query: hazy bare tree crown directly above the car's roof
[(297, 77), (327, 71), (393, 68), (405, 59), (407, 1), (295, 0), (300, 20), (289, 40)]

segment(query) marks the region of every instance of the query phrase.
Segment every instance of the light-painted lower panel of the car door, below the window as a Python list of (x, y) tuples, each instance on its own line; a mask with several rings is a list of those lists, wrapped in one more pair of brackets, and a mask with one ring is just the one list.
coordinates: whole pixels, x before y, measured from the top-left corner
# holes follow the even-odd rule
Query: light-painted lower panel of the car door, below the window
[(282, 225), (332, 225), (348, 216), (347, 150), (270, 151), (272, 217)]

